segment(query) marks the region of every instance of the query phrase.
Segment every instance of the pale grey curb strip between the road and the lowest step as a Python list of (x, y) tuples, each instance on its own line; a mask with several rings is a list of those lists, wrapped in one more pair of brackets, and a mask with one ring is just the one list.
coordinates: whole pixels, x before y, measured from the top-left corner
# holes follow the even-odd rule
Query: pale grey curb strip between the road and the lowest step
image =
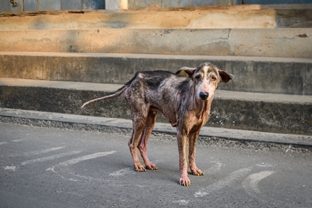
[[(61, 123), (77, 123), (80, 125), (94, 125), (104, 127), (114, 127), (131, 129), (132, 121), (127, 119), (105, 118), (96, 116), (81, 116), (75, 114), (60, 114), (53, 112), (38, 112), (31, 110), (16, 110), (0, 108), (0, 117), (33, 119), (40, 121), (55, 121)], [(208, 121), (209, 122), (209, 121)], [(156, 123), (154, 132), (162, 132), (174, 135), (176, 130), (169, 123)], [(312, 146), (312, 136), (309, 135), (289, 135), (270, 132), (256, 132), (250, 130), (234, 130), (225, 128), (202, 127), (200, 136), (216, 137), (232, 140), (261, 141), (277, 144), (297, 144)]]

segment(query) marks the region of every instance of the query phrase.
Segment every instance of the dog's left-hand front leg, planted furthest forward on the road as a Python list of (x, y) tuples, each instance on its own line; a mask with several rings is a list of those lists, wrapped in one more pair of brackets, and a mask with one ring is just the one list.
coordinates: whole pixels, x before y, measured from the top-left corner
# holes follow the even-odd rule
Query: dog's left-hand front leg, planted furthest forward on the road
[(187, 175), (187, 157), (185, 151), (187, 148), (187, 134), (182, 130), (177, 130), (177, 147), (179, 149), (179, 166), (180, 166), (180, 181), (179, 184), (188, 187), (191, 184), (189, 175)]

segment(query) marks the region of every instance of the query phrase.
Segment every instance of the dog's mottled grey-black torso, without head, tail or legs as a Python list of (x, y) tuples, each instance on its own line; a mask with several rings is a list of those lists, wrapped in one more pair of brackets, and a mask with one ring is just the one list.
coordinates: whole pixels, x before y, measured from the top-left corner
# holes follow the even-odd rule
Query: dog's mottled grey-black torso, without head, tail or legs
[[(189, 88), (191, 78), (171, 73), (170, 71), (143, 71), (136, 73), (125, 90), (125, 98), (130, 107), (139, 110), (162, 112), (171, 124), (176, 123), (180, 95)], [(132, 109), (133, 110), (133, 109)], [(142, 109), (141, 109), (142, 110)]]

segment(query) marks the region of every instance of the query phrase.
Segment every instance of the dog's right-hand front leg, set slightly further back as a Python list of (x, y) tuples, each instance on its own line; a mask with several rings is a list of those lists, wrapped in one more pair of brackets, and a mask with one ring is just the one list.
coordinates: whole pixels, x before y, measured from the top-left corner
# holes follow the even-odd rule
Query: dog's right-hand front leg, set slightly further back
[(189, 135), (189, 168), (193, 175), (204, 175), (200, 169), (197, 168), (195, 163), (196, 157), (196, 141), (198, 139), (199, 132), (194, 132)]

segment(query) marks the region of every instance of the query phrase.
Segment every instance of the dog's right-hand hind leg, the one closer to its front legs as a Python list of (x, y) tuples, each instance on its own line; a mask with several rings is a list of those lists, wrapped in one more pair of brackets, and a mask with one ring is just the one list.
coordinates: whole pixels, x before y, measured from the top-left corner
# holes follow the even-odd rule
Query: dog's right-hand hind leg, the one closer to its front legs
[(154, 124), (156, 121), (157, 112), (154, 112), (153, 110), (148, 111), (148, 117), (146, 119), (146, 125), (144, 127), (144, 130), (141, 134), (141, 137), (139, 139), (139, 143), (137, 144), (137, 148), (139, 148), (139, 151), (141, 153), (141, 157), (144, 160), (144, 164), (148, 170), (157, 170), (158, 167), (151, 163), (146, 155), (146, 148), (147, 148), (147, 142), (148, 138), (150, 137), (150, 134), (153, 131)]

